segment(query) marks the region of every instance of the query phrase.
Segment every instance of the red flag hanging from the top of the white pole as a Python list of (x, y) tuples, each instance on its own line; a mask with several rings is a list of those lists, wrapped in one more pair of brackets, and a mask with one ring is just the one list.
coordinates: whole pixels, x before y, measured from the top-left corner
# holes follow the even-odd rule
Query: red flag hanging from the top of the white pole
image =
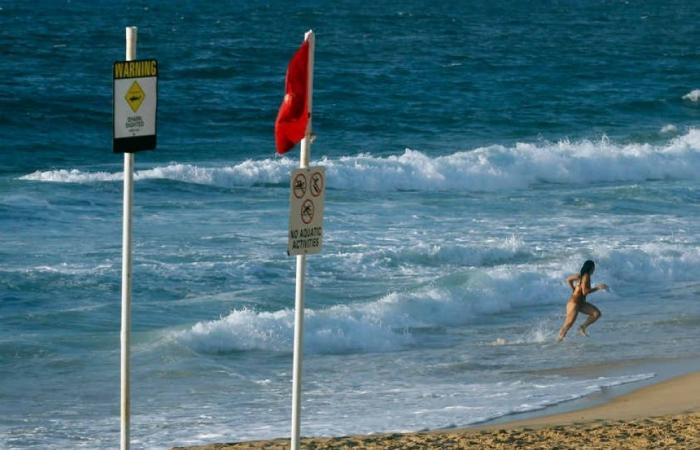
[(277, 153), (289, 151), (306, 134), (309, 123), (308, 79), (309, 41), (304, 41), (287, 67), (284, 100), (275, 120)]

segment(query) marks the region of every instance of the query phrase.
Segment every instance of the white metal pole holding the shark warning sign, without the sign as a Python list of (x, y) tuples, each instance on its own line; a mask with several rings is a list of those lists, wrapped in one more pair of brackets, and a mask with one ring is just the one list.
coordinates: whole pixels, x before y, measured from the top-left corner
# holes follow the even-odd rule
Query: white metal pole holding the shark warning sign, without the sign
[[(136, 59), (136, 27), (126, 28), (126, 60)], [(122, 329), (121, 329), (121, 450), (129, 450), (131, 400), (129, 384), (129, 335), (131, 333), (131, 202), (134, 196), (134, 154), (124, 153), (124, 219), (122, 231)]]

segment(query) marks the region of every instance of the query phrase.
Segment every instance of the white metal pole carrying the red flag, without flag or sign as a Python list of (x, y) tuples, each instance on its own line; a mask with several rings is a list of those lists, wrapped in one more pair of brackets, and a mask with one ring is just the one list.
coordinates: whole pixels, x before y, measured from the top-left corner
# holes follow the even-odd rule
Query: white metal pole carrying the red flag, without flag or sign
[[(311, 158), (311, 119), (313, 114), (312, 99), (314, 90), (314, 32), (309, 30), (304, 35), (309, 41), (309, 68), (307, 102), (309, 105), (309, 121), (306, 125), (304, 139), (301, 140), (299, 168), (309, 167)], [(306, 273), (306, 255), (297, 255), (297, 280), (294, 298), (294, 363), (292, 380), (292, 443), (291, 450), (299, 450), (299, 435), (301, 429), (301, 372), (304, 351), (304, 275)]]

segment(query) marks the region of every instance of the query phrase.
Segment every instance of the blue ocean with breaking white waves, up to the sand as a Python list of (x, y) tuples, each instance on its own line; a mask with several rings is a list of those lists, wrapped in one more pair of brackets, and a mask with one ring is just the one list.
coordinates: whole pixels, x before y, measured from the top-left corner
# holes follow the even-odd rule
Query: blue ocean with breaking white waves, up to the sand
[[(289, 436), (298, 149), (276, 156), (273, 124), (308, 29), (327, 189), (302, 435), (504, 420), (697, 368), (699, 19), (656, 0), (0, 2), (0, 448), (118, 446), (131, 25), (159, 65), (133, 448)], [(558, 344), (586, 259), (602, 318)]]

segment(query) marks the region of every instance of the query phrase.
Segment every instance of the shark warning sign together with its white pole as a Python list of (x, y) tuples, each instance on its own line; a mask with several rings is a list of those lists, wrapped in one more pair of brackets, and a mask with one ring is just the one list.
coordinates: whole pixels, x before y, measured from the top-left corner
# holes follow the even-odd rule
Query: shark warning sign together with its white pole
[(126, 61), (114, 63), (113, 151), (124, 153), (124, 216), (122, 222), (122, 321), (120, 448), (130, 447), (131, 335), (131, 211), (134, 195), (134, 152), (156, 147), (156, 90), (158, 65), (155, 60), (136, 60), (137, 28), (126, 28)]

